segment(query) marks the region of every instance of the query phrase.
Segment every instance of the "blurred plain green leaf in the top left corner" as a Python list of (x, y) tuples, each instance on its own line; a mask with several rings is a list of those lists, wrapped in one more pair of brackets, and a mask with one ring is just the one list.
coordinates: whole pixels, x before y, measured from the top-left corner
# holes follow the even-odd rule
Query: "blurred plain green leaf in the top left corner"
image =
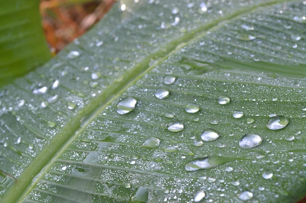
[(39, 0), (0, 0), (0, 84), (50, 59)]

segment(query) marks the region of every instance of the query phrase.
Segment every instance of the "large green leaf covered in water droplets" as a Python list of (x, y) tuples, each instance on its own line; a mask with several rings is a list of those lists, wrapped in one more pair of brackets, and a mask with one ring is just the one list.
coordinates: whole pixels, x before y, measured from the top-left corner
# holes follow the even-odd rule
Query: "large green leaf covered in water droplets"
[(303, 198), (305, 13), (301, 0), (120, 1), (1, 89), (2, 202)]

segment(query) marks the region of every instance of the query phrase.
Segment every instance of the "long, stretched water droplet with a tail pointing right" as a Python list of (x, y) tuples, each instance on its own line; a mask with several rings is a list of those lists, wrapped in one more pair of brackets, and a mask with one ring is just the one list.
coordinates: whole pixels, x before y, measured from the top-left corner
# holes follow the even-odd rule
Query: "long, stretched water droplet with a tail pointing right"
[(223, 163), (232, 162), (234, 159), (232, 158), (224, 158), (224, 157), (206, 157), (204, 159), (198, 159), (187, 163), (185, 169), (187, 171), (196, 171), (199, 169), (211, 169), (215, 168)]

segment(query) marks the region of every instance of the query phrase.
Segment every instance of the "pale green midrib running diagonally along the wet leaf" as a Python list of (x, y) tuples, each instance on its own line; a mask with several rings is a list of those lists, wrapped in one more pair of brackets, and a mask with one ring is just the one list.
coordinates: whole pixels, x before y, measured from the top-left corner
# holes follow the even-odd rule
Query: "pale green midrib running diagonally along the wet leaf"
[[(28, 195), (31, 189), (38, 183), (38, 181), (43, 177), (45, 172), (51, 167), (53, 162), (58, 159), (58, 157), (66, 150), (71, 142), (78, 137), (78, 135), (84, 131), (87, 125), (92, 122), (98, 114), (103, 111), (111, 102), (113, 102), (121, 93), (127, 90), (135, 81), (143, 77), (147, 72), (152, 70), (157, 64), (165, 61), (168, 57), (174, 54), (177, 50), (188, 44), (202, 38), (208, 31), (212, 31), (222, 26), (224, 23), (235, 20), (241, 15), (253, 12), (258, 8), (265, 6), (270, 6), (276, 3), (281, 3), (286, 0), (275, 0), (271, 2), (260, 3), (256, 6), (251, 6), (249, 8), (240, 9), (237, 12), (228, 15), (226, 17), (213, 20), (197, 29), (186, 33), (180, 38), (169, 42), (167, 45), (161, 47), (156, 52), (150, 54), (148, 57), (143, 59), (140, 63), (134, 65), (133, 68), (125, 74), (125, 79), (117, 83), (117, 85), (112, 85), (110, 88), (98, 95), (95, 99), (90, 101), (86, 107), (82, 109), (82, 112), (76, 114), (66, 125), (62, 128), (60, 133), (58, 133), (50, 141), (48, 146), (33, 159), (33, 161), (23, 170), (20, 177), (18, 177), (18, 182), (12, 185), (12, 187), (5, 193), (2, 201), (6, 203), (22, 202), (24, 198)], [(166, 51), (162, 51), (166, 50)], [(159, 60), (150, 66), (152, 58), (159, 58)], [(115, 93), (115, 94), (114, 94)], [(86, 113), (89, 112), (89, 113)], [(80, 121), (83, 117), (90, 115), (87, 122), (80, 126)], [(73, 132), (73, 133), (71, 133)], [(62, 144), (59, 144), (62, 143)]]

